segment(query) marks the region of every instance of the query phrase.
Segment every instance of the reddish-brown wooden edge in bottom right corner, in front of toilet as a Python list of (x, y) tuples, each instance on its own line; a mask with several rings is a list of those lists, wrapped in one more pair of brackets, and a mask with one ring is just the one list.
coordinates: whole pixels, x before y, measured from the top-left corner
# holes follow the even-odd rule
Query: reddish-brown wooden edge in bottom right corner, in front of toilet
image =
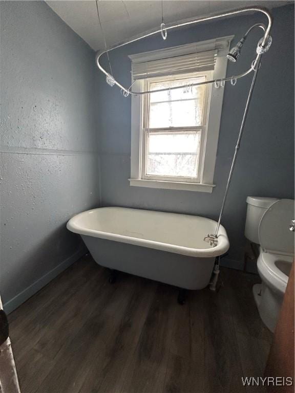
[(293, 379), (292, 386), (269, 386), (269, 393), (294, 392), (294, 261), (264, 375)]

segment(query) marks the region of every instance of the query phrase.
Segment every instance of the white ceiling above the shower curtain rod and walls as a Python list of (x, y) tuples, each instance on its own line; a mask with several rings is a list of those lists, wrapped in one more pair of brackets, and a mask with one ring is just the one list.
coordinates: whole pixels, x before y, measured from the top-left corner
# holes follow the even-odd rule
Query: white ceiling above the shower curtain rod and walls
[[(91, 48), (104, 48), (95, 0), (54, 0), (46, 2)], [(263, 6), (269, 9), (291, 1), (203, 1), (165, 0), (165, 23), (200, 17), (210, 13), (227, 11), (245, 6)], [(99, 0), (98, 9), (107, 45), (112, 46), (124, 39), (147, 30), (159, 28), (162, 21), (161, 1), (154, 0)]]

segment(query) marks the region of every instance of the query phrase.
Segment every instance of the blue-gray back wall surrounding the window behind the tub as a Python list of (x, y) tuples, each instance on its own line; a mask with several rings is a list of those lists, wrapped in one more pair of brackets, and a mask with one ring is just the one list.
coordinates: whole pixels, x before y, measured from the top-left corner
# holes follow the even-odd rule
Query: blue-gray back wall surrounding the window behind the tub
[[(293, 10), (292, 5), (273, 10), (273, 44), (263, 56), (225, 208), (223, 225), (231, 246), (223, 263), (231, 267), (243, 267), (247, 195), (293, 198)], [(166, 41), (160, 35), (141, 40), (110, 53), (114, 76), (130, 85), (129, 54), (231, 34), (236, 35), (234, 42), (237, 42), (252, 24), (262, 20), (263, 16), (257, 14), (236, 17), (168, 32)], [(228, 64), (227, 75), (242, 72), (249, 66), (260, 36), (260, 30), (251, 33), (239, 61)], [(217, 219), (250, 77), (238, 80), (234, 87), (226, 84), (215, 169), (216, 188), (212, 194), (207, 194), (129, 186), (131, 98), (124, 98), (115, 87), (110, 88), (100, 72), (97, 71), (96, 75), (102, 205), (198, 214)]]

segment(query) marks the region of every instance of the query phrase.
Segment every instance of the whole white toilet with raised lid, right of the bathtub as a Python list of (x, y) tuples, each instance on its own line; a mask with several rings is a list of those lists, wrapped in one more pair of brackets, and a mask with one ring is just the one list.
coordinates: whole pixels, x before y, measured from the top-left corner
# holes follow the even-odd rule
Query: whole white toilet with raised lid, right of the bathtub
[(257, 269), (262, 280), (253, 287), (261, 319), (274, 332), (294, 258), (294, 201), (247, 198), (245, 236), (260, 245)]

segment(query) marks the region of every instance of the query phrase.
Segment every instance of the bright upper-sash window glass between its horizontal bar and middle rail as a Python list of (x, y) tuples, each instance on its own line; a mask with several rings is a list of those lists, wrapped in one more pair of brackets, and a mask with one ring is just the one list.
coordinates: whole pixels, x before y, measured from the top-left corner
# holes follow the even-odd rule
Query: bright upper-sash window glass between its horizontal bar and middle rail
[(150, 104), (150, 128), (189, 127), (202, 124), (203, 101), (185, 100)]

